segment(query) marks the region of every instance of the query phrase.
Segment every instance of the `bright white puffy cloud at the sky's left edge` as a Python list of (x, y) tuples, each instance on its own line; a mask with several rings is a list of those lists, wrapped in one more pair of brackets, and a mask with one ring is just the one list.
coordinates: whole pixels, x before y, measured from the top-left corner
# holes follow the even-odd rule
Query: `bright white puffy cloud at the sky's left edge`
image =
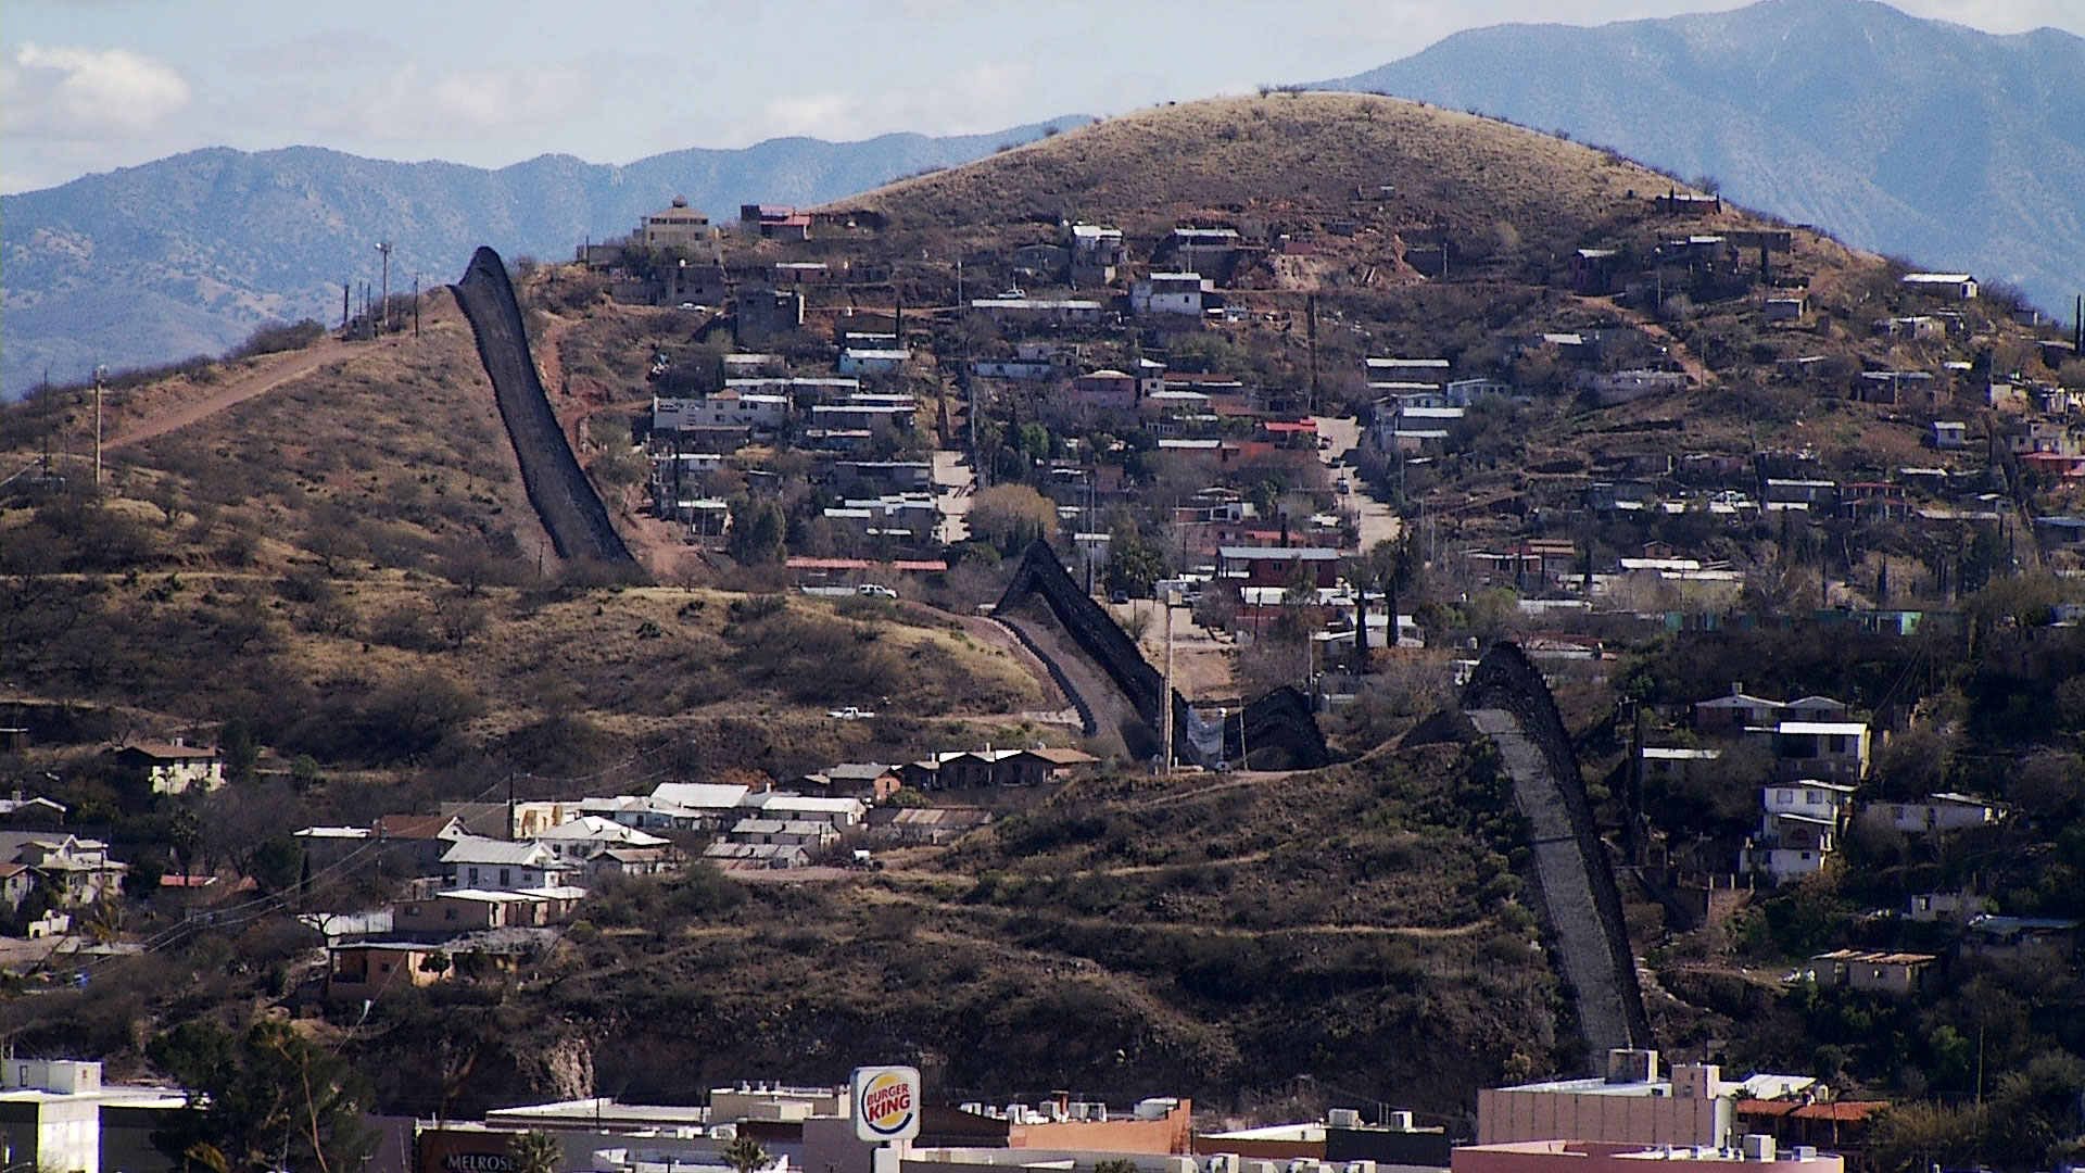
[(23, 42), (0, 63), (8, 138), (104, 142), (136, 138), (194, 98), (173, 67), (127, 48)]

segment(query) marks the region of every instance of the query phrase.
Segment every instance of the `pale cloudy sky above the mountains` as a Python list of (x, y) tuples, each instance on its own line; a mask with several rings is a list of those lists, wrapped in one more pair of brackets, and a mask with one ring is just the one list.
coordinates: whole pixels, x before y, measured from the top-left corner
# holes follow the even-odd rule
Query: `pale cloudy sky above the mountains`
[[(778, 136), (986, 134), (1345, 77), (1468, 27), (1739, 0), (8, 0), (0, 192), (198, 146), (502, 167)], [(2085, 33), (2085, 0), (1899, 0)]]

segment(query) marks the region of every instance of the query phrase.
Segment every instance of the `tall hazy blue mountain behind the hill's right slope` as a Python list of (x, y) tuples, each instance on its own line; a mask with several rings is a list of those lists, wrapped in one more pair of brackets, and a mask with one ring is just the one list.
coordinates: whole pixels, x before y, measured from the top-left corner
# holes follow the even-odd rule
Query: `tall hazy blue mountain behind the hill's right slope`
[(1324, 81), (1566, 131), (1858, 248), (2085, 290), (2085, 38), (1991, 35), (1872, 0), (1601, 27), (1495, 25)]

